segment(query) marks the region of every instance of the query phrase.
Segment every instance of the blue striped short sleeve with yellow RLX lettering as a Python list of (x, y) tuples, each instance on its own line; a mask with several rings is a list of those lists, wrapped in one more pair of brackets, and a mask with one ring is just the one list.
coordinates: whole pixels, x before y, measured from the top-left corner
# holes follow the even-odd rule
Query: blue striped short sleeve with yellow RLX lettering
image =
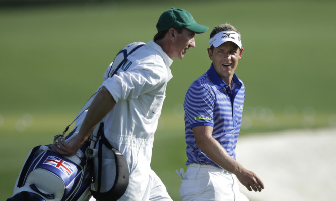
[(214, 104), (214, 96), (206, 87), (196, 85), (188, 89), (184, 111), (190, 129), (197, 126), (214, 126)]

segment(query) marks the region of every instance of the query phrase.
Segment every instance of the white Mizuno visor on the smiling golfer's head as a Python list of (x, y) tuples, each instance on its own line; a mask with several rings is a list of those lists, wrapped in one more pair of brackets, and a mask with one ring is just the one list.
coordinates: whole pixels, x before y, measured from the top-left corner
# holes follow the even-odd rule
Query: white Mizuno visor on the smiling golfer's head
[(214, 37), (210, 38), (209, 45), (213, 45), (214, 47), (218, 47), (225, 42), (234, 42), (240, 49), (243, 48), (241, 45), (241, 38), (237, 32), (234, 31), (221, 31), (217, 33)]

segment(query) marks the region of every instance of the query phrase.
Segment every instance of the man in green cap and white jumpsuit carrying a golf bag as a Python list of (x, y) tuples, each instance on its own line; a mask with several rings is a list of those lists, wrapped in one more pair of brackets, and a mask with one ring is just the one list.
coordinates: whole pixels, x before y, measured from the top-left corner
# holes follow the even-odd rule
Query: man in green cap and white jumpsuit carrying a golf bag
[[(153, 41), (131, 43), (119, 52), (105, 72), (77, 135), (66, 141), (59, 138), (58, 145), (53, 146), (60, 154), (74, 155), (96, 125), (104, 122), (104, 136), (125, 156), (130, 172), (127, 190), (119, 200), (171, 200), (150, 167), (154, 133), (167, 82), (172, 78), (172, 58), (182, 59), (196, 46), (195, 34), (208, 30), (188, 11), (176, 8), (165, 11), (156, 27)], [(100, 189), (105, 192), (114, 184), (116, 168), (111, 150), (104, 147), (102, 155)]]

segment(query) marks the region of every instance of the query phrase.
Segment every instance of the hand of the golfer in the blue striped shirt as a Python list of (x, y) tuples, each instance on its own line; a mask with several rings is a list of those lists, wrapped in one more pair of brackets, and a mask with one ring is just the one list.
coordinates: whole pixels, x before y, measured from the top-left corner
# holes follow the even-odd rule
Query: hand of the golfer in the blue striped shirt
[(242, 168), (238, 172), (235, 172), (238, 180), (243, 184), (249, 191), (254, 190), (255, 192), (261, 192), (265, 188), (261, 179), (252, 171)]

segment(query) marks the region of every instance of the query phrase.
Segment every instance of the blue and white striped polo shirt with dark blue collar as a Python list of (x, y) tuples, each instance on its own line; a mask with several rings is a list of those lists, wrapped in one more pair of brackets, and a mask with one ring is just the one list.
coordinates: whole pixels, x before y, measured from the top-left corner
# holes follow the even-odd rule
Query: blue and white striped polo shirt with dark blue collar
[(208, 164), (219, 167), (201, 151), (193, 135), (196, 126), (212, 126), (212, 136), (236, 159), (245, 87), (234, 74), (231, 88), (217, 74), (214, 66), (195, 80), (189, 87), (184, 100), (185, 139), (187, 143), (186, 165)]

